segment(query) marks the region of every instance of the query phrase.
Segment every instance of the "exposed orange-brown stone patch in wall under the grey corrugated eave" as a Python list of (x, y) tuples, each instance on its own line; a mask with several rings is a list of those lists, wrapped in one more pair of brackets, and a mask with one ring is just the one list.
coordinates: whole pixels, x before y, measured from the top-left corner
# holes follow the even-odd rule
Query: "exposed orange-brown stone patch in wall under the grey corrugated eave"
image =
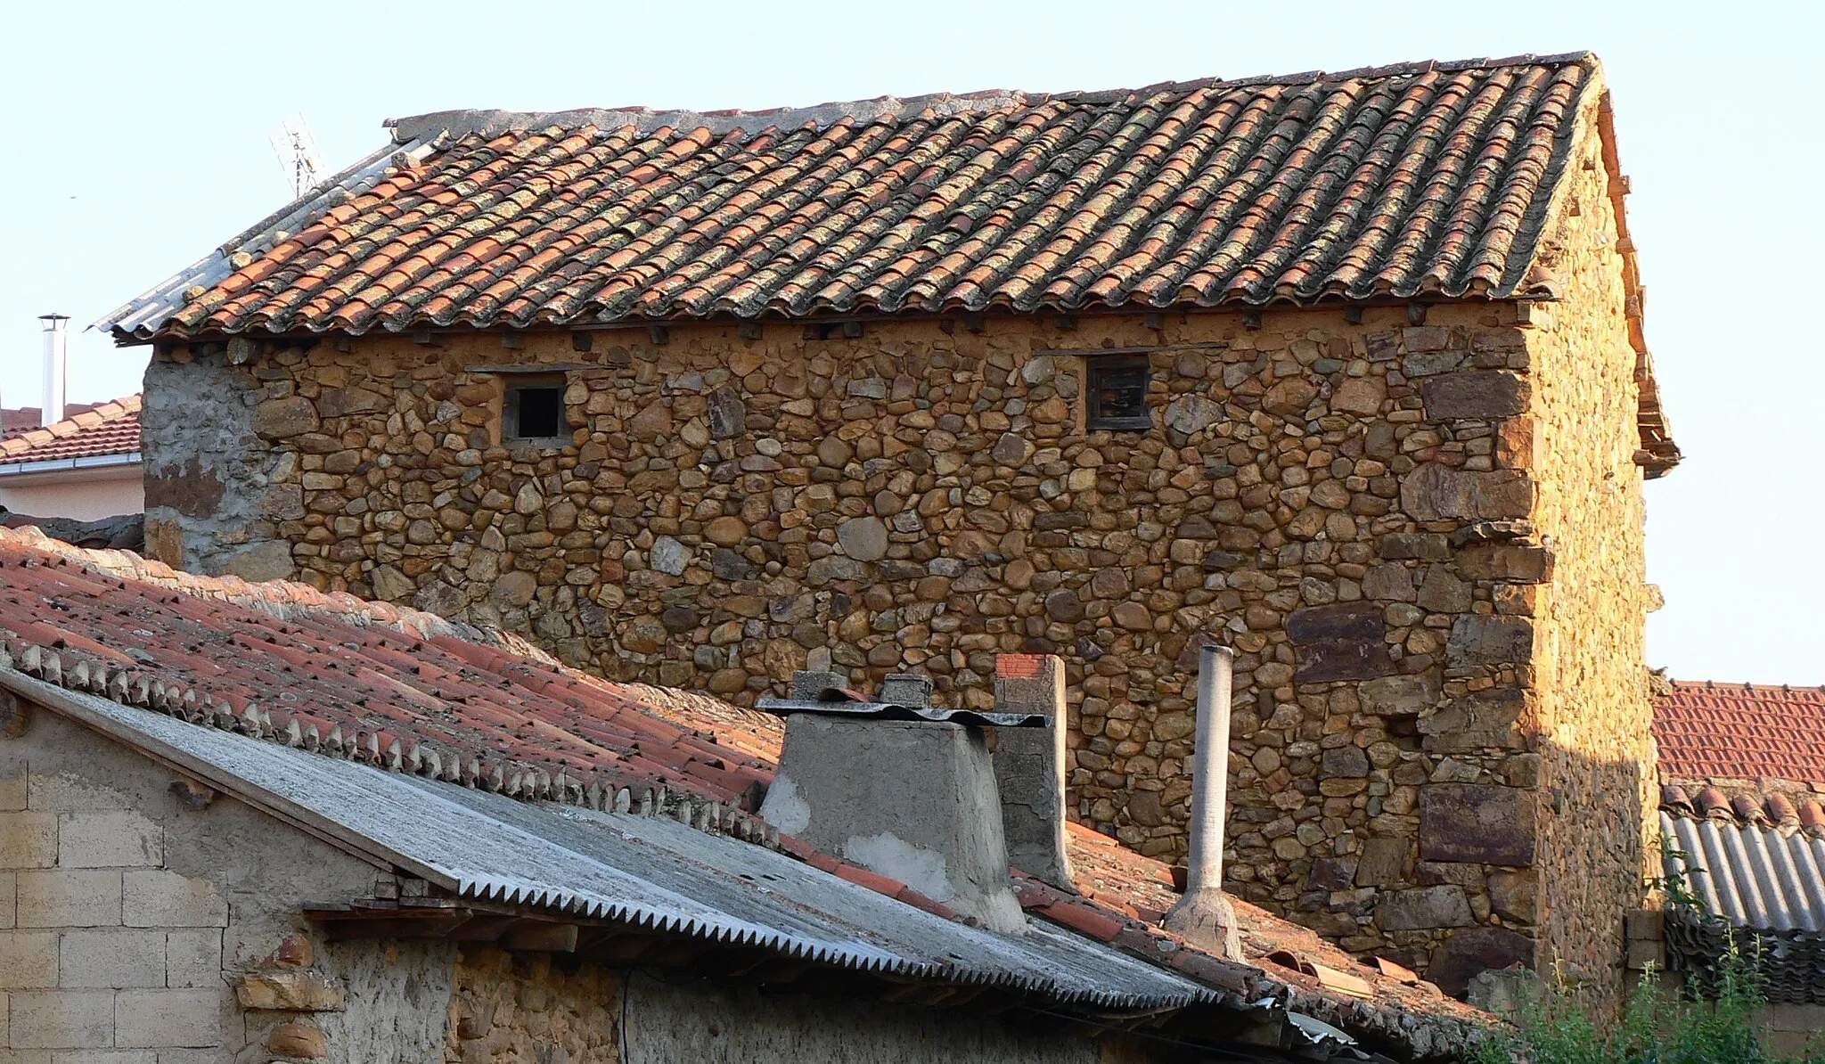
[(464, 949), (445, 1024), (445, 1064), (615, 1064), (620, 978), (551, 954)]

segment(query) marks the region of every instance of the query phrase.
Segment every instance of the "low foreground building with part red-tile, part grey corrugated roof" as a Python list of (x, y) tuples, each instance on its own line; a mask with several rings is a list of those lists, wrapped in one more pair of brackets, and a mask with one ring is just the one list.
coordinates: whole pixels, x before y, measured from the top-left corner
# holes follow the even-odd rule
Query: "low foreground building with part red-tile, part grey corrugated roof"
[[(1073, 894), (1004, 856), (1015, 920), (965, 920), (752, 816), (776, 717), (509, 633), (11, 531), (0, 589), (7, 1064), (1418, 1064), (1486, 1020), (1246, 905), (1243, 956), (1179, 942), (1082, 829)], [(903, 798), (840, 812), (964, 808)]]

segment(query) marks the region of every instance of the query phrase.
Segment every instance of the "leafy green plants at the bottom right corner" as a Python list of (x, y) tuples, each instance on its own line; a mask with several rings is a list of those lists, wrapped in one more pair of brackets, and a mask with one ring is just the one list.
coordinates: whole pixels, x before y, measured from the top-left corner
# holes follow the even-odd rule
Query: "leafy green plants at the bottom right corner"
[(1473, 1064), (1774, 1064), (1825, 1062), (1818, 1049), (1778, 1057), (1763, 1046), (1757, 1020), (1767, 1004), (1757, 951), (1736, 938), (1703, 998), (1697, 986), (1668, 993), (1653, 971), (1641, 976), (1615, 1024), (1593, 1018), (1555, 978), (1513, 1027), (1491, 1035)]

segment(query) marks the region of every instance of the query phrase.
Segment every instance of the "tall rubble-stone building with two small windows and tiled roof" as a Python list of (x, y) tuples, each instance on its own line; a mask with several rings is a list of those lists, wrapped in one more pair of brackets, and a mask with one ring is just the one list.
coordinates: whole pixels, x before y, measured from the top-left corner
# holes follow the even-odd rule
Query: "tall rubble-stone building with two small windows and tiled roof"
[(1221, 641), (1239, 896), (1617, 986), (1679, 453), (1595, 57), (392, 139), (104, 319), (155, 557), (735, 703), (1058, 653), (1168, 861)]

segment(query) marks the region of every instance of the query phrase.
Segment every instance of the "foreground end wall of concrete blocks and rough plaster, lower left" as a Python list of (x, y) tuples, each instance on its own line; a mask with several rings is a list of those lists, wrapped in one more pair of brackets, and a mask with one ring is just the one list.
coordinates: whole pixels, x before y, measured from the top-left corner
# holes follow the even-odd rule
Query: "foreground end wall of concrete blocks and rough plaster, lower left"
[(321, 945), (374, 869), (199, 794), (47, 710), (0, 737), (0, 1060), (440, 1059), (454, 951)]

